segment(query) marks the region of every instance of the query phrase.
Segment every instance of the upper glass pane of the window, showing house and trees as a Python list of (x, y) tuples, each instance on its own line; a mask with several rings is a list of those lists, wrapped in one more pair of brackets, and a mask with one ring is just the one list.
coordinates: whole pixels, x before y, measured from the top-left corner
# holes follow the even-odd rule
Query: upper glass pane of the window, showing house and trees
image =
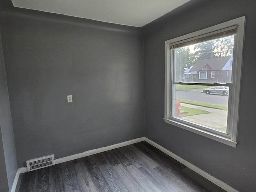
[(174, 81), (231, 83), (233, 48), (234, 35), (176, 48)]

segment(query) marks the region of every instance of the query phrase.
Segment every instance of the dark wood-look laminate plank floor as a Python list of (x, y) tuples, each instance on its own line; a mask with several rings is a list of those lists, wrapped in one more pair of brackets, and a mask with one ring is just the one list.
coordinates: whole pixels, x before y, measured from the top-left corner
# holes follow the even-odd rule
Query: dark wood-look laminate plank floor
[(140, 142), (20, 175), (16, 192), (224, 192)]

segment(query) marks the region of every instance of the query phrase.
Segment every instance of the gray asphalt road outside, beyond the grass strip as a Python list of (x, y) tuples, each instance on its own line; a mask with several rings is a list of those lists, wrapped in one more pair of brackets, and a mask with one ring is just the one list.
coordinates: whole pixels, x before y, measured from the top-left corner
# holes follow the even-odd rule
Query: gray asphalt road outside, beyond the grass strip
[(201, 91), (198, 91), (198, 92), (176, 91), (176, 98), (228, 106), (228, 96), (223, 96), (218, 94), (207, 95), (207, 94), (201, 93)]

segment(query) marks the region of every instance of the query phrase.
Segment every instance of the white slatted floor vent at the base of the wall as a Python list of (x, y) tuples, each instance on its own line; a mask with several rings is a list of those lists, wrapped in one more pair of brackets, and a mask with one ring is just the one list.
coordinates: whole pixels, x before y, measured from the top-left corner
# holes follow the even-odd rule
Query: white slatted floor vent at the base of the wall
[(36, 159), (27, 160), (28, 171), (41, 169), (54, 165), (54, 155), (44, 156)]

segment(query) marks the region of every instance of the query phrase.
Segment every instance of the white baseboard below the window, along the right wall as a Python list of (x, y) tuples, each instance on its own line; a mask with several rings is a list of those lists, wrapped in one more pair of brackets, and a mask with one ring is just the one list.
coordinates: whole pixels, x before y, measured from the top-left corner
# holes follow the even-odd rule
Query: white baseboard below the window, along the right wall
[(238, 192), (237, 190), (235, 190), (234, 188), (232, 188), (228, 184), (222, 182), (221, 180), (218, 180), (214, 176), (211, 176), (210, 174), (206, 173), (205, 171), (203, 171), (202, 169), (198, 168), (197, 166), (194, 166), (190, 162), (182, 159), (181, 157), (179, 157), (176, 154), (170, 152), (166, 148), (163, 148), (162, 146), (158, 145), (154, 141), (152, 141), (152, 140), (150, 140), (148, 138), (145, 138), (145, 141), (148, 142), (149, 144), (151, 144), (152, 146), (158, 148), (159, 150), (161, 150), (165, 154), (169, 155), (170, 157), (174, 158), (178, 162), (184, 164), (185, 166), (187, 166), (188, 168), (190, 168), (194, 172), (196, 172), (196, 173), (200, 174), (201, 176), (203, 176), (204, 178), (208, 179), (210, 182), (212, 182), (212, 183), (216, 184), (217, 186), (219, 186), (220, 188), (226, 190), (227, 192)]

